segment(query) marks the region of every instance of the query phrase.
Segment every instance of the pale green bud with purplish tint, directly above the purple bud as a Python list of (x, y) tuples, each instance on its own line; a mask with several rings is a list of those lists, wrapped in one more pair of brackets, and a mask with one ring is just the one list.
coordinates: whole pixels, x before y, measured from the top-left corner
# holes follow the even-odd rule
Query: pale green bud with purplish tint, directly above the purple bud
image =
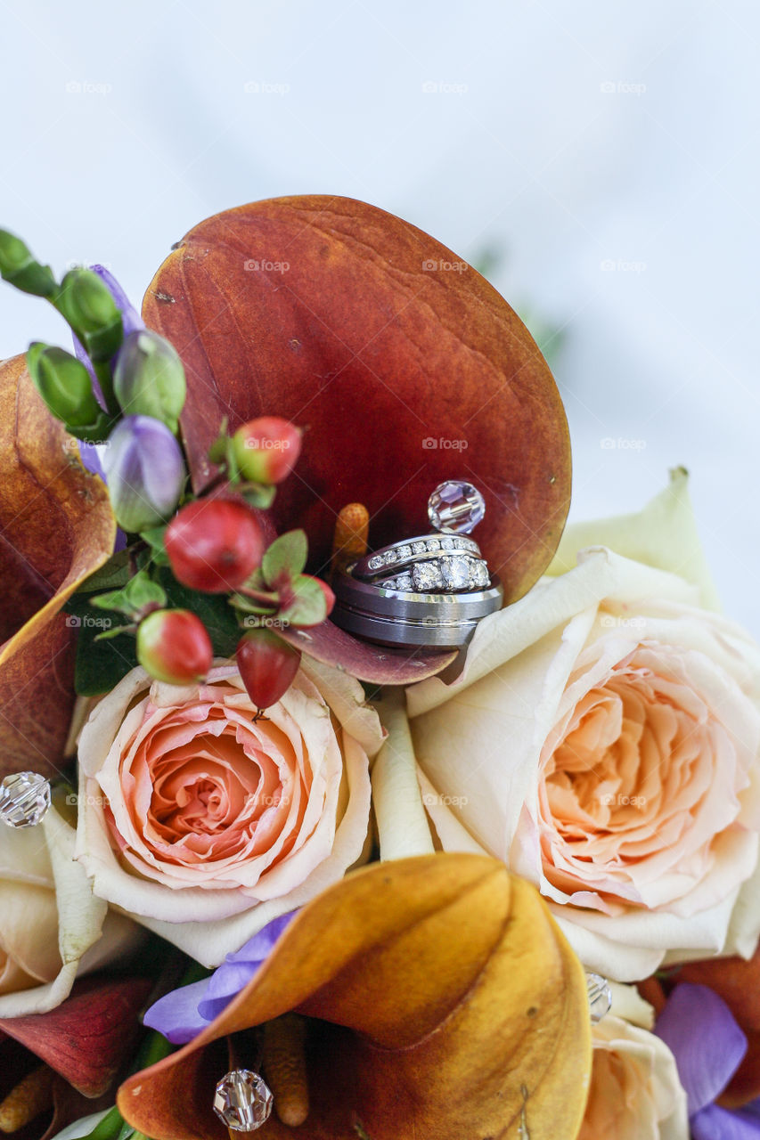
[(149, 328), (124, 337), (113, 373), (113, 390), (127, 415), (153, 416), (172, 432), (185, 404), (185, 369), (172, 344)]

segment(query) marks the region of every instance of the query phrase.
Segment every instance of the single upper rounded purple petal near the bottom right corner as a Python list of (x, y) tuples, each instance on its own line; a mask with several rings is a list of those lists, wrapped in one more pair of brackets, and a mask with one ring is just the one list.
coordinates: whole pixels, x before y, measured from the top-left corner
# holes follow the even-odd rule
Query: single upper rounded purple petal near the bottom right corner
[(676, 1057), (694, 1116), (723, 1091), (746, 1052), (746, 1037), (730, 1009), (708, 986), (676, 986), (655, 1024)]

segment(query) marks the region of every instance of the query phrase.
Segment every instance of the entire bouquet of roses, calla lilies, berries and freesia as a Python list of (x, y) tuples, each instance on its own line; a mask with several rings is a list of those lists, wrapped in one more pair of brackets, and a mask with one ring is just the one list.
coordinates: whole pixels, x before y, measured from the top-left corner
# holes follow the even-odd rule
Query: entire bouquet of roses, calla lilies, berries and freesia
[[(760, 1138), (760, 651), (687, 474), (564, 529), (507, 302), (227, 211), (0, 275), (0, 1131)], [(71, 349), (71, 350), (70, 350)]]

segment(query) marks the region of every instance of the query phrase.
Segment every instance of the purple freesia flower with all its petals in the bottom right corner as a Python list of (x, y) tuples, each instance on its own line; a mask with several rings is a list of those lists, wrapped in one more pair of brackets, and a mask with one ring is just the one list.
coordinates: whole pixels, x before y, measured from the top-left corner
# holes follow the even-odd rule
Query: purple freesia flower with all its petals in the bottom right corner
[(694, 1140), (760, 1140), (760, 1099), (738, 1109), (714, 1104), (747, 1048), (722, 997), (709, 986), (681, 983), (657, 1018), (655, 1033), (676, 1058)]

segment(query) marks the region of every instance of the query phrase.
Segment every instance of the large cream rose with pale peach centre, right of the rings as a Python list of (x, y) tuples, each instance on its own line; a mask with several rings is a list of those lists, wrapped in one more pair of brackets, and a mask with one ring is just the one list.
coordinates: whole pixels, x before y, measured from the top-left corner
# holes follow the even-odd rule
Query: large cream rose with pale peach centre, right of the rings
[(608, 976), (751, 954), (760, 651), (705, 608), (685, 473), (639, 516), (571, 528), (551, 571), (453, 684), (409, 690), (440, 845), (535, 882)]

